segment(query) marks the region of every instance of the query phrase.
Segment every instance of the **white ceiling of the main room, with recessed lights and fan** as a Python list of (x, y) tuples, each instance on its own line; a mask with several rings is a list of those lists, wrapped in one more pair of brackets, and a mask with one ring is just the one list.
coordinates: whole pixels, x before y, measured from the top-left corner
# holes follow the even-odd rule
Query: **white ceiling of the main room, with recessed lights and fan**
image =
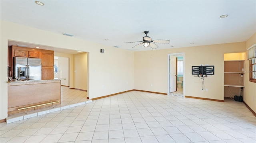
[[(144, 31), (153, 40), (170, 40), (170, 44), (157, 44), (158, 49), (241, 42), (256, 32), (255, 0), (41, 2), (45, 5), (0, 0), (0, 19), (128, 50), (139, 43), (124, 42), (142, 41)], [(224, 14), (228, 17), (220, 18)]]

